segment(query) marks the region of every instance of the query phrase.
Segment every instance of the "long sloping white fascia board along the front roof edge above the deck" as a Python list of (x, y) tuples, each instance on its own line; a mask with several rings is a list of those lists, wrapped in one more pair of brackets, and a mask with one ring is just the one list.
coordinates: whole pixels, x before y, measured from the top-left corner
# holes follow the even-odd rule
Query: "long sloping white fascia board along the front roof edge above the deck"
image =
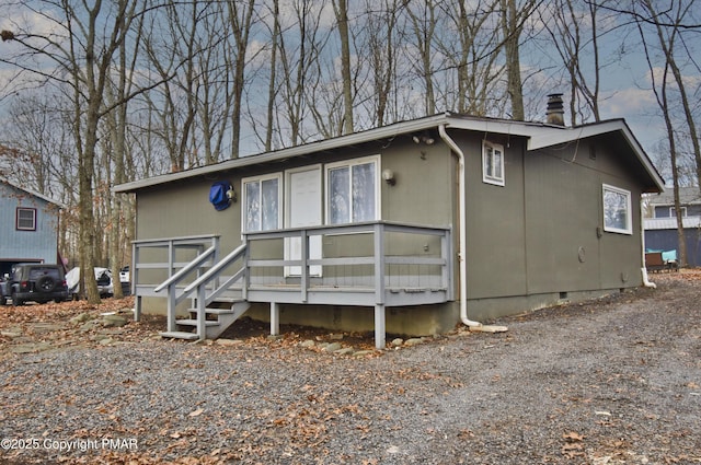
[(262, 163), (281, 161), (301, 155), (310, 155), (318, 152), (335, 150), (343, 147), (352, 147), (365, 142), (371, 142), (378, 139), (391, 139), (400, 135), (432, 129), (438, 125), (446, 124), (446, 115), (435, 115), (410, 121), (397, 123), (389, 126), (382, 126), (367, 131), (354, 132), (347, 136), (341, 136), (333, 139), (324, 139), (318, 142), (310, 142), (303, 146), (290, 147), (277, 150), (275, 152), (266, 152), (258, 155), (242, 156), (234, 160), (195, 167), (181, 171), (177, 173), (163, 174), (146, 179), (135, 181), (131, 183), (119, 184), (112, 188), (114, 193), (131, 193), (145, 187), (156, 186), (159, 184), (171, 183), (174, 181), (187, 179), (189, 177), (218, 173), (228, 170), (235, 170), (243, 166), (252, 166)]

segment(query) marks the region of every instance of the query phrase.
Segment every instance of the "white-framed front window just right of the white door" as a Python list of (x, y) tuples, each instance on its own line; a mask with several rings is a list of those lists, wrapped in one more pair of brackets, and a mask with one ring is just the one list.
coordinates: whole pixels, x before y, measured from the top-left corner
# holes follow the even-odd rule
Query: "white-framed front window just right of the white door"
[(326, 221), (342, 224), (377, 220), (378, 172), (377, 158), (326, 166)]

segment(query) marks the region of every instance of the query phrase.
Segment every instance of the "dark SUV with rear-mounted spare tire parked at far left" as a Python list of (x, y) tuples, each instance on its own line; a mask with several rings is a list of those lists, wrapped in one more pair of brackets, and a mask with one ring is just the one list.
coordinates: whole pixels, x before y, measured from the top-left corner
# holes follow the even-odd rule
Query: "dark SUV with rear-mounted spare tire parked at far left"
[[(68, 286), (64, 269), (58, 265), (20, 264), (12, 268), (10, 281), (5, 283), (2, 302), (9, 297), (12, 305), (26, 301), (46, 303), (50, 300), (68, 300)], [(9, 294), (9, 295), (8, 295)]]

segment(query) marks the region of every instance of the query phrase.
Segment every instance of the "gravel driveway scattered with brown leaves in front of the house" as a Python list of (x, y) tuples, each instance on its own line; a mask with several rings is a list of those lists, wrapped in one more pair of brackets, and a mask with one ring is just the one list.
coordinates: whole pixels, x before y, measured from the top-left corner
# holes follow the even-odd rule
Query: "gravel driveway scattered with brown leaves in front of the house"
[(371, 338), (271, 340), (251, 323), (193, 345), (153, 337), (160, 321), (105, 342), (67, 324), (73, 311), (44, 332), (10, 318), (0, 463), (699, 464), (701, 274), (652, 278), (656, 290), (502, 319), (505, 334), (381, 354), (326, 350)]

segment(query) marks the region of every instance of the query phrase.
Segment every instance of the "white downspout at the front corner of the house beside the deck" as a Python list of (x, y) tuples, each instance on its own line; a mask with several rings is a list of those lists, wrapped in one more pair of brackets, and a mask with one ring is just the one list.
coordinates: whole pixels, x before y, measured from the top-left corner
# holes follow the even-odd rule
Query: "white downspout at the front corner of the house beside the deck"
[(464, 260), (464, 253), (468, 248), (467, 240), (467, 212), (466, 212), (466, 188), (464, 188), (464, 153), (455, 140), (446, 132), (446, 125), (438, 126), (440, 139), (448, 144), (450, 150), (458, 158), (458, 222), (460, 228), (460, 241), (458, 251), (458, 261), (460, 265), (460, 321), (471, 330), (487, 333), (502, 333), (508, 330), (506, 326), (484, 326), (480, 322), (468, 317), (468, 264)]

